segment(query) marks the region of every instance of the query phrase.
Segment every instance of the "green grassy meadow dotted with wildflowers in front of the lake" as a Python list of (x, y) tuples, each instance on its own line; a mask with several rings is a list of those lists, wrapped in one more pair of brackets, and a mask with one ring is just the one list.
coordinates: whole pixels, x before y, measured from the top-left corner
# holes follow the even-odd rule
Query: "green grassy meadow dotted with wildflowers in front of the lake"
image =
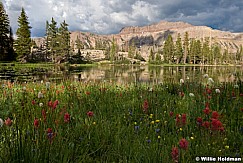
[[(1, 85), (2, 162), (194, 162), (243, 154), (240, 82)], [(173, 147), (179, 153), (172, 157)]]

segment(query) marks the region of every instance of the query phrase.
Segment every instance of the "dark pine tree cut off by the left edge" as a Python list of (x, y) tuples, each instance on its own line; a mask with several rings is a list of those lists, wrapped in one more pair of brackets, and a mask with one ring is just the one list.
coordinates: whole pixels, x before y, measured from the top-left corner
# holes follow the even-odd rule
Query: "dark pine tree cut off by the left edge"
[(2, 2), (0, 2), (0, 61), (6, 60), (9, 48), (9, 18), (4, 9)]

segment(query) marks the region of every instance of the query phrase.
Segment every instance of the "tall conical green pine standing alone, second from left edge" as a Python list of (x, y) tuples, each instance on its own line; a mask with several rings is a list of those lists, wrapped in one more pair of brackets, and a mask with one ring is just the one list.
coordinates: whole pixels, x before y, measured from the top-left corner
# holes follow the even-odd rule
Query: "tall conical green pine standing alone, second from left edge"
[(15, 49), (18, 58), (28, 57), (31, 53), (31, 27), (29, 26), (28, 17), (22, 8), (21, 14), (18, 18), (18, 26), (16, 35), (17, 40), (15, 42)]

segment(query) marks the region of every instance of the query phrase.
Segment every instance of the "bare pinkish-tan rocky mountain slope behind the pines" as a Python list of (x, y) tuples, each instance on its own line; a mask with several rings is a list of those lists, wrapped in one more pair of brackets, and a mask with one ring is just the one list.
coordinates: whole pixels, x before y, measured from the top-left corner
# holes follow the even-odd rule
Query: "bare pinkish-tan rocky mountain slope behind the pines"
[[(140, 49), (141, 55), (144, 58), (148, 58), (150, 47), (154, 47), (155, 50), (162, 47), (169, 34), (172, 35), (175, 41), (178, 33), (180, 33), (183, 40), (186, 32), (188, 32), (189, 38), (202, 40), (209, 37), (210, 44), (217, 43), (221, 46), (221, 49), (228, 49), (231, 53), (235, 53), (243, 45), (243, 33), (220, 31), (207, 26), (193, 26), (184, 22), (161, 21), (142, 27), (124, 27), (118, 34), (112, 35), (97, 35), (79, 31), (71, 32), (71, 46), (76, 49), (75, 41), (80, 39), (86, 49), (92, 49), (96, 47), (97, 41), (102, 43), (102, 45), (107, 45), (114, 38), (120, 50), (127, 51), (129, 45), (135, 44)], [(34, 40), (38, 46), (43, 43), (43, 38)]]

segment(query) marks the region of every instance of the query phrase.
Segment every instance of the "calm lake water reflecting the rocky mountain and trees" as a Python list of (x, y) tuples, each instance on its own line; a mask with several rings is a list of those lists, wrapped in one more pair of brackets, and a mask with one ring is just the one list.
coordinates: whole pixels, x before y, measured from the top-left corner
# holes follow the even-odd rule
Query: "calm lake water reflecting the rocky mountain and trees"
[(163, 83), (179, 82), (180, 79), (199, 81), (203, 75), (219, 82), (243, 80), (242, 66), (196, 66), (163, 67), (134, 65), (99, 65), (99, 66), (53, 66), (53, 67), (15, 67), (1, 66), (0, 80), (11, 81), (112, 81), (118, 83)]

